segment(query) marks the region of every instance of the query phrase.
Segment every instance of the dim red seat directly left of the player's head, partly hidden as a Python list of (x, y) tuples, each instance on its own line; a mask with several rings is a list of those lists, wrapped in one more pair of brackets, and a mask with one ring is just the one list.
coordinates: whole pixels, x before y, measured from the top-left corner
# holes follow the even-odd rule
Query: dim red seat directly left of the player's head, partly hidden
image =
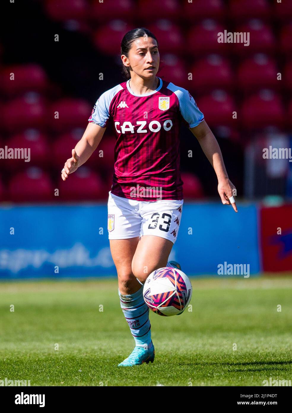
[(94, 32), (94, 45), (106, 55), (117, 55), (120, 52), (122, 38), (133, 28), (134, 26), (126, 21), (112, 20)]

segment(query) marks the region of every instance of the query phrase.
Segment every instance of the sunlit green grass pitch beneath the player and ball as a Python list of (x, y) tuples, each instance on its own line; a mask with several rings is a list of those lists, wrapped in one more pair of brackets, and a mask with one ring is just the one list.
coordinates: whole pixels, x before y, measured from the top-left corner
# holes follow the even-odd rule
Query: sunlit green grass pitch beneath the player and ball
[(292, 380), (292, 278), (192, 283), (193, 311), (151, 313), (155, 361), (132, 368), (117, 367), (134, 340), (115, 280), (0, 283), (0, 380), (31, 380), (32, 386), (262, 386), (269, 377)]

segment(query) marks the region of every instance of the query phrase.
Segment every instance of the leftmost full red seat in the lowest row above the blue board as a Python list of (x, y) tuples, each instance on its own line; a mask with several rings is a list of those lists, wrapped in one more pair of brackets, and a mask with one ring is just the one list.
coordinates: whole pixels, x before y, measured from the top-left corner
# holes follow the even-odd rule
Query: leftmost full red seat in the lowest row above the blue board
[(15, 202), (54, 200), (51, 178), (39, 168), (16, 173), (9, 182), (9, 199)]

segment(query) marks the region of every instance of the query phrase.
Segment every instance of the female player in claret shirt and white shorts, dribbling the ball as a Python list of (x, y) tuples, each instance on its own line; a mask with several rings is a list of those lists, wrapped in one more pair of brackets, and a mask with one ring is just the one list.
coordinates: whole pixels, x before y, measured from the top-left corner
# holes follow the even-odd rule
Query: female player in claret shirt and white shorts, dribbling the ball
[[(168, 257), (177, 240), (183, 205), (179, 129), (187, 124), (212, 164), (223, 204), (232, 204), (216, 138), (184, 88), (157, 77), (158, 41), (146, 28), (125, 34), (122, 68), (127, 81), (97, 100), (81, 140), (62, 170), (62, 179), (84, 164), (99, 145), (109, 122), (116, 135), (113, 185), (108, 197), (108, 237), (118, 273), (120, 304), (136, 346), (119, 366), (154, 360), (149, 309), (143, 284), (157, 268), (177, 266)], [(141, 286), (142, 285), (142, 286)]]

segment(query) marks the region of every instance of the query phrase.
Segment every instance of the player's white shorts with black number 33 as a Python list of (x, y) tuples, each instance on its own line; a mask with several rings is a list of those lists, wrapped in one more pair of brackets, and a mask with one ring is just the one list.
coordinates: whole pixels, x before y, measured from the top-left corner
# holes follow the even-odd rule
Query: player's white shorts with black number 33
[(181, 223), (183, 199), (137, 201), (108, 193), (108, 238), (122, 240), (156, 235), (175, 242)]

